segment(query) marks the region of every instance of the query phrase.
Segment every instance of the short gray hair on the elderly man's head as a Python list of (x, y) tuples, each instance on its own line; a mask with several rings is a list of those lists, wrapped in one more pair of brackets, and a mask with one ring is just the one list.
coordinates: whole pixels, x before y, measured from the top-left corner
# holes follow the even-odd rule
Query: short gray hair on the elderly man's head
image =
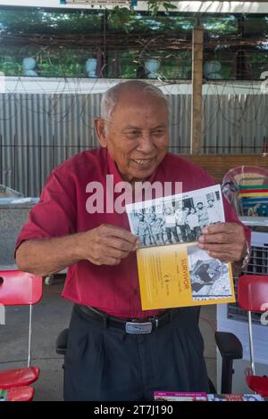
[(111, 87), (105, 92), (105, 94), (103, 94), (102, 102), (101, 102), (101, 118), (106, 119), (106, 120), (109, 120), (112, 118), (113, 111), (115, 110), (115, 107), (119, 100), (119, 96), (121, 94), (121, 89), (123, 87), (128, 87), (128, 86), (130, 86), (130, 88), (135, 87), (137, 88), (137, 90), (140, 90), (141, 92), (151, 94), (153, 96), (163, 99), (168, 108), (167, 97), (165, 94), (163, 94), (160, 88), (154, 85), (149, 85), (148, 83), (141, 80), (127, 80), (127, 81), (122, 81), (121, 83)]

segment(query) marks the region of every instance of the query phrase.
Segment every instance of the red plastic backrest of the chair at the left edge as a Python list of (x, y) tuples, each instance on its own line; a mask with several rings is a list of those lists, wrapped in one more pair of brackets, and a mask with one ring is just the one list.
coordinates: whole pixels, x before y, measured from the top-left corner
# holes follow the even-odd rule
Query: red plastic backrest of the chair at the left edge
[(4, 306), (28, 306), (42, 297), (40, 276), (18, 270), (0, 270), (0, 304)]

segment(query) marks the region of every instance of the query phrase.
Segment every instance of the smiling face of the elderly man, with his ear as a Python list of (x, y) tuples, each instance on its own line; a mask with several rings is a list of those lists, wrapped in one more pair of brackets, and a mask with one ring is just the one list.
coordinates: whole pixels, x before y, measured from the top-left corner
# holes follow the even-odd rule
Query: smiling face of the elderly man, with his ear
[(130, 183), (150, 177), (168, 147), (168, 110), (164, 100), (124, 89), (112, 119), (105, 122), (106, 129), (101, 128), (103, 120), (98, 120), (100, 144), (107, 147), (121, 177)]

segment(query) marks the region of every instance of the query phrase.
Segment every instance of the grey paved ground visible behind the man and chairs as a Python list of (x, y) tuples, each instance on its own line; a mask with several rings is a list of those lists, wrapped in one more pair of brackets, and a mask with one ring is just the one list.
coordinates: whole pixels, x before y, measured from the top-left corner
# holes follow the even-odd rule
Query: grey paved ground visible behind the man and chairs
[[(63, 400), (63, 359), (55, 353), (55, 341), (69, 325), (72, 304), (61, 298), (62, 288), (63, 277), (45, 285), (43, 299), (33, 311), (32, 365), (41, 370), (35, 400)], [(28, 313), (24, 307), (6, 310), (6, 325), (0, 325), (0, 370), (26, 365)], [(216, 382), (215, 306), (202, 308), (200, 327), (208, 373)]]

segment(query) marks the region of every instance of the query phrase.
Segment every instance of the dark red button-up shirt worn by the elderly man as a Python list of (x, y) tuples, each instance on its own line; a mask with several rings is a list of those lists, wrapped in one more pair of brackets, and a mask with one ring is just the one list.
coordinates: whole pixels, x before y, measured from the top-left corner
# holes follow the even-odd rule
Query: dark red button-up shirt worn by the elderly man
[[(104, 148), (80, 152), (54, 168), (46, 181), (40, 201), (30, 211), (16, 248), (25, 240), (85, 232), (103, 223), (130, 230), (126, 213), (87, 212), (88, 183), (98, 181), (104, 185), (105, 190), (106, 175), (113, 175), (114, 184), (122, 181), (114, 161)], [(214, 179), (202, 168), (172, 153), (166, 154), (150, 180), (182, 182), (182, 192), (214, 185)], [(224, 201), (224, 209), (227, 221), (238, 222), (227, 201)], [(134, 252), (115, 267), (96, 266), (88, 260), (80, 260), (71, 265), (63, 298), (124, 318), (142, 318), (159, 312), (141, 309)]]

